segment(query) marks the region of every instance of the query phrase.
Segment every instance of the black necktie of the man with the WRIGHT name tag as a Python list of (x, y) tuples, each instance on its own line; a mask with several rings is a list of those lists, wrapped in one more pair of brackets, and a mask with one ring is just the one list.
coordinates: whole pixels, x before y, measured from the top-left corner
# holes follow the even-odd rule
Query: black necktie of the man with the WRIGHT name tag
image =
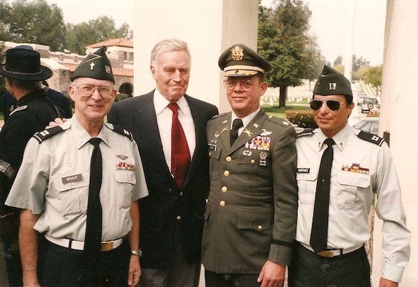
[(98, 137), (90, 139), (93, 148), (90, 163), (90, 185), (88, 186), (88, 205), (86, 219), (86, 238), (84, 253), (94, 255), (100, 253), (102, 240), (102, 205), (100, 204), (100, 187), (102, 186), (102, 153)]

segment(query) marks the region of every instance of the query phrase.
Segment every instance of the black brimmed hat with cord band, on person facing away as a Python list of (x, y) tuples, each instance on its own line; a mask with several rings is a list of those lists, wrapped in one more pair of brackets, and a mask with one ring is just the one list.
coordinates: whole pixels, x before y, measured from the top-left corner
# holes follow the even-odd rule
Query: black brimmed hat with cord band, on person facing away
[(21, 81), (42, 81), (52, 77), (52, 70), (40, 65), (40, 54), (29, 45), (6, 51), (6, 63), (0, 65), (0, 75)]

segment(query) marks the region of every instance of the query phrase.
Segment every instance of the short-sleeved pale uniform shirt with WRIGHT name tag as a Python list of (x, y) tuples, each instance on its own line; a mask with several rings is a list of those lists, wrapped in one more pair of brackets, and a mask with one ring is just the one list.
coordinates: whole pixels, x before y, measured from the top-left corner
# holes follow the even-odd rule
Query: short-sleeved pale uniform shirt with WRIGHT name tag
[[(84, 241), (93, 145), (75, 117), (41, 143), (31, 138), (6, 204), (39, 215), (34, 228), (54, 238)], [(148, 195), (137, 143), (106, 123), (102, 139), (102, 241), (126, 235), (130, 205)]]

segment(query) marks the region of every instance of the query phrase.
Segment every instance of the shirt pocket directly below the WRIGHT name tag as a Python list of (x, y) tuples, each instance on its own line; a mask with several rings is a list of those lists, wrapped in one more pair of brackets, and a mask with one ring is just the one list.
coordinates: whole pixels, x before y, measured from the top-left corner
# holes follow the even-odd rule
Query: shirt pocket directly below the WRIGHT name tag
[(63, 178), (69, 178), (74, 175), (52, 178), (63, 215), (86, 213), (87, 211), (90, 173), (80, 174), (81, 177), (79, 176), (79, 180), (70, 183), (63, 183)]

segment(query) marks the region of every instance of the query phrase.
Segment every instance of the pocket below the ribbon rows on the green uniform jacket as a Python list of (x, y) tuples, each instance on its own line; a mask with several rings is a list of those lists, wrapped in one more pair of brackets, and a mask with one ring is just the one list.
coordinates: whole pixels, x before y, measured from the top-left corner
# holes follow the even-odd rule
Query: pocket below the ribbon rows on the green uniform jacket
[[(237, 179), (242, 187), (268, 187), (272, 183), (272, 169), (268, 150), (238, 150), (238, 168), (242, 174)], [(250, 155), (248, 155), (250, 154)], [(260, 165), (260, 164), (263, 165)]]

